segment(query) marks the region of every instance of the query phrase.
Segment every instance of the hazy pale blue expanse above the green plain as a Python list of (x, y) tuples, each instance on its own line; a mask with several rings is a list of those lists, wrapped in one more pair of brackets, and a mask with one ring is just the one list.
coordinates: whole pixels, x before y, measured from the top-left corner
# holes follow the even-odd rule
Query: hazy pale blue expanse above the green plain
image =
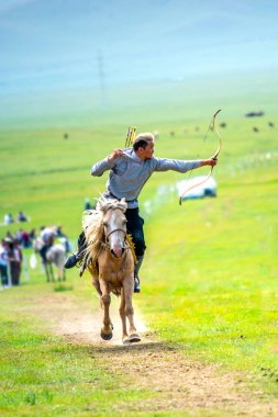
[(0, 0), (0, 89), (278, 69), (277, 18), (277, 0)]

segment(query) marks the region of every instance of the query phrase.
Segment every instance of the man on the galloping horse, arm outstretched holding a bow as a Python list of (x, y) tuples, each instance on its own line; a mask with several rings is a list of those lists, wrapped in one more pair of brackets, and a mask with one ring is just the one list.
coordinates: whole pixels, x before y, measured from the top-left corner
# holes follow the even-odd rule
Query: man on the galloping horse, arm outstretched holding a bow
[[(107, 190), (103, 193), (105, 199), (121, 200), (124, 198), (127, 203), (125, 212), (127, 233), (132, 235), (137, 258), (134, 270), (134, 292), (137, 293), (141, 291), (138, 271), (146, 249), (143, 230), (144, 219), (140, 216), (137, 200), (142, 188), (155, 171), (173, 170), (184, 173), (203, 166), (213, 167), (216, 165), (215, 158), (200, 160), (156, 158), (154, 147), (154, 135), (152, 133), (141, 133), (135, 137), (132, 147), (114, 149), (110, 156), (91, 168), (91, 174), (94, 177), (101, 177), (103, 172), (110, 171)], [(75, 267), (82, 258), (85, 248), (86, 238), (82, 232), (78, 238), (78, 251), (67, 259), (65, 268)]]

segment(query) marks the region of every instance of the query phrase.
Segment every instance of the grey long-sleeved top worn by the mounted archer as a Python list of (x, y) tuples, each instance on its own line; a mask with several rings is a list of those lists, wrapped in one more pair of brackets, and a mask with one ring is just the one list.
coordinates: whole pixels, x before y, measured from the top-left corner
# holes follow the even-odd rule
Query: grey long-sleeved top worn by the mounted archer
[(129, 208), (138, 206), (137, 198), (140, 192), (154, 171), (177, 171), (187, 172), (190, 169), (199, 168), (200, 160), (178, 160), (156, 158), (142, 161), (133, 148), (123, 149), (123, 156), (109, 162), (108, 157), (91, 167), (91, 174), (101, 177), (103, 172), (110, 170), (107, 198), (125, 198)]

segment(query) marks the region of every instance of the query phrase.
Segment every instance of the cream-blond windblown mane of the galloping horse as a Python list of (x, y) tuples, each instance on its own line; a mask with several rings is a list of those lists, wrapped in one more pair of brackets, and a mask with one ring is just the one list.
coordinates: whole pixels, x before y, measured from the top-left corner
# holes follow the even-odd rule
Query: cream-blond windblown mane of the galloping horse
[(105, 213), (109, 210), (115, 208), (120, 208), (124, 213), (127, 204), (124, 199), (119, 201), (101, 196), (97, 202), (96, 210), (90, 211), (84, 218), (82, 226), (87, 241), (85, 259), (87, 262), (90, 260), (94, 261), (100, 252), (104, 235), (103, 217)]

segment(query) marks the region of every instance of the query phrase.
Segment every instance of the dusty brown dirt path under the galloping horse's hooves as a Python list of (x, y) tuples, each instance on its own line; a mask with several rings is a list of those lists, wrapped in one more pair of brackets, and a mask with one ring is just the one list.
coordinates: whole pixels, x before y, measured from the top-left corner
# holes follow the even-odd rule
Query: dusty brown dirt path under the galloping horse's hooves
[[(40, 300), (36, 314), (48, 323), (49, 330), (62, 335), (68, 342), (90, 345), (91, 354), (101, 367), (104, 359), (110, 362), (111, 372), (124, 375), (129, 370), (127, 377), (134, 387), (156, 394), (155, 398), (137, 404), (133, 412), (188, 410), (189, 415), (202, 416), (278, 415), (277, 402), (270, 403), (262, 392), (248, 390), (248, 375), (223, 374), (218, 367), (196, 363), (178, 350), (155, 340), (137, 312), (136, 325), (142, 341), (123, 346), (116, 304), (113, 300), (114, 337), (109, 342), (101, 341), (99, 336), (100, 311), (93, 312), (90, 305), (80, 308), (66, 293)], [(58, 322), (56, 317), (59, 317)]]

